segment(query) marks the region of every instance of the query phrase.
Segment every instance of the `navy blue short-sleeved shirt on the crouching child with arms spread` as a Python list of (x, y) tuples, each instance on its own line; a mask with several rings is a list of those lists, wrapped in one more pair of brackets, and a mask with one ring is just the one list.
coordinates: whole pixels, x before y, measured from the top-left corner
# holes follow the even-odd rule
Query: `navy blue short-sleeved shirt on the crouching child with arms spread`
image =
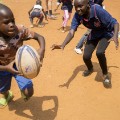
[(81, 23), (92, 30), (89, 40), (94, 40), (102, 37), (111, 38), (113, 36), (114, 25), (117, 23), (117, 20), (101, 6), (95, 4), (90, 8), (89, 19), (84, 19), (83, 16), (79, 16), (77, 13), (74, 14), (71, 29), (77, 30)]

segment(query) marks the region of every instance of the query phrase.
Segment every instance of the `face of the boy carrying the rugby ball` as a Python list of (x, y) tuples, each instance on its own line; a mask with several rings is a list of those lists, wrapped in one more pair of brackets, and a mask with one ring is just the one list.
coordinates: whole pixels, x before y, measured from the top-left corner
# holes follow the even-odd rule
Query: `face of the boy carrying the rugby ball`
[(10, 10), (0, 10), (0, 32), (9, 37), (16, 34), (15, 19)]

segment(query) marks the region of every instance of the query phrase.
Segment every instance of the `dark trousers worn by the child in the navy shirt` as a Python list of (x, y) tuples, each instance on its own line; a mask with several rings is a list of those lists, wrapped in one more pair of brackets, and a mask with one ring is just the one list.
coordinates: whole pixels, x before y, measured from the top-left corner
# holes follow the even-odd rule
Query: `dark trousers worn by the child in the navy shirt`
[(92, 53), (95, 50), (97, 46), (96, 56), (98, 58), (100, 67), (102, 69), (102, 73), (106, 75), (108, 73), (107, 70), (107, 61), (105, 57), (105, 50), (107, 49), (109, 42), (109, 39), (102, 38), (100, 40), (87, 40), (84, 54), (83, 54), (83, 60), (88, 68), (88, 70), (91, 70), (93, 68), (91, 57)]

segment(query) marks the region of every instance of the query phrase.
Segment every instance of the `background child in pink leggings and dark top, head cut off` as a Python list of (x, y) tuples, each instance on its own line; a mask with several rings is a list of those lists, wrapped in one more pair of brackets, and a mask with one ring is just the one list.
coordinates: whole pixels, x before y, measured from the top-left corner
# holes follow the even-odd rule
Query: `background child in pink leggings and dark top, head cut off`
[(73, 5), (72, 5), (72, 0), (58, 0), (57, 1), (57, 8), (55, 9), (55, 11), (60, 6), (60, 3), (62, 3), (61, 9), (64, 11), (63, 23), (62, 23), (62, 32), (65, 32), (67, 22), (71, 17)]

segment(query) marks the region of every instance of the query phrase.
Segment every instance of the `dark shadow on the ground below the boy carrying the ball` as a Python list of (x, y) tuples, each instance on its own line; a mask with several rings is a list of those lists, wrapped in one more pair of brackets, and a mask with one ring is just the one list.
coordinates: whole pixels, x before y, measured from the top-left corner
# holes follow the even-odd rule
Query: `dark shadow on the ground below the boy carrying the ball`
[(15, 114), (31, 120), (54, 120), (58, 111), (58, 98), (33, 96), (28, 102), (24, 102), (23, 99), (12, 101), (8, 107), (10, 111), (15, 110)]

